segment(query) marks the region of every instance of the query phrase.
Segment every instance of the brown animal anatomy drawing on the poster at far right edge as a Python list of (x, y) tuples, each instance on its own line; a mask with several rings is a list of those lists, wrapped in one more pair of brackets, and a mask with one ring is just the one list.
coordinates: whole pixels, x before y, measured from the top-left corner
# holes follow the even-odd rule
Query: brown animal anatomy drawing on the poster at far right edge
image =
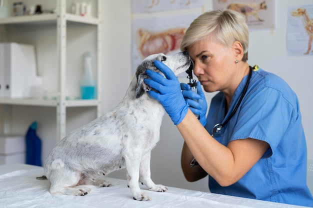
[[(305, 8), (298, 8), (291, 12), (292, 16), (297, 16), (302, 18), (302, 22), (305, 28), (305, 31), (308, 34), (308, 43), (307, 50), (304, 54), (308, 54), (311, 49), (311, 44), (313, 40), (313, 18), (309, 18)], [(313, 52), (313, 50), (312, 50)]]

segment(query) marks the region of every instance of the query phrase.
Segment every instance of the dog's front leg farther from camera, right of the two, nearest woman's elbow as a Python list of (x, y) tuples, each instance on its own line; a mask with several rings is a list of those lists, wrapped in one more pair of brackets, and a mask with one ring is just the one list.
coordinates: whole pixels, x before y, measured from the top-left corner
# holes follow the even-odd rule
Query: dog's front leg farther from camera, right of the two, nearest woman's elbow
[(149, 190), (165, 192), (167, 188), (161, 184), (155, 184), (151, 179), (150, 172), (150, 156), (151, 151), (148, 151), (146, 154), (142, 155), (140, 161), (140, 171), (139, 171), (139, 180), (149, 188)]

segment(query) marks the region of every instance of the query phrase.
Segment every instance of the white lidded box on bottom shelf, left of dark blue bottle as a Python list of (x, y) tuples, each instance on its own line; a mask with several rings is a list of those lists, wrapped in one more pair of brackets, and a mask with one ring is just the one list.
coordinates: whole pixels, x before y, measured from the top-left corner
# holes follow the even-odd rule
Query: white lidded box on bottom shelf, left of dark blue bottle
[(0, 135), (0, 164), (25, 163), (24, 135)]

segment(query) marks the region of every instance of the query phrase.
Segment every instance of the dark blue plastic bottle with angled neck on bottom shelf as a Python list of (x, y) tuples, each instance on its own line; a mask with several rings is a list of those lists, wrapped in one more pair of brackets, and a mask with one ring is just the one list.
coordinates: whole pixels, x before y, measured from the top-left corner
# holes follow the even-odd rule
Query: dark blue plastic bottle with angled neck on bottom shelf
[(36, 134), (37, 122), (30, 124), (25, 140), (26, 140), (26, 164), (42, 166), (41, 164), (41, 139)]

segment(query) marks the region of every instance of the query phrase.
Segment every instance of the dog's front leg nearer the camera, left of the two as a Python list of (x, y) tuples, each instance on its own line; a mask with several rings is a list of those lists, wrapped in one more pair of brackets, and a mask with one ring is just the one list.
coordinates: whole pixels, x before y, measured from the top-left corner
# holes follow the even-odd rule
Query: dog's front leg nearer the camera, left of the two
[(133, 199), (135, 200), (151, 200), (148, 194), (141, 191), (139, 187), (139, 166), (140, 166), (140, 153), (130, 153), (125, 155), (125, 164), (127, 170), (127, 181)]

